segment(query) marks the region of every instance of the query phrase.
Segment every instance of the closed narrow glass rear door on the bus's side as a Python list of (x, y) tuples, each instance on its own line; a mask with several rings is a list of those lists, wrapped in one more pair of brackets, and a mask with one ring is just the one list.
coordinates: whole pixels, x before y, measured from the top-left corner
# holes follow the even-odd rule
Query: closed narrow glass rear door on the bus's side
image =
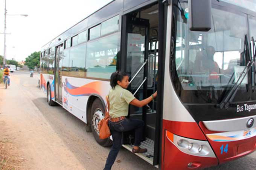
[(55, 99), (62, 104), (62, 80), (61, 80), (61, 68), (60, 61), (63, 56), (63, 44), (56, 47), (55, 56)]

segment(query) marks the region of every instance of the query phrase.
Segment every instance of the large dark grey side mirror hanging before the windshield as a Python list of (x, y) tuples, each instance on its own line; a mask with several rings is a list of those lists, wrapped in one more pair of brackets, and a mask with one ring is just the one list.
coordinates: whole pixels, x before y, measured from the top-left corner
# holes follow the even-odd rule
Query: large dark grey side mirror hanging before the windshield
[(211, 26), (212, 0), (189, 0), (189, 29), (209, 31)]

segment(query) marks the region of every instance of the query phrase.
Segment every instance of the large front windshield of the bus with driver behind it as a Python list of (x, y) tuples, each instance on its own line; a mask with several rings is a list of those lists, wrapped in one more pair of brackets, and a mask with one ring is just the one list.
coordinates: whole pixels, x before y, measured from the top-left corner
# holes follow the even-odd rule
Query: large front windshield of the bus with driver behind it
[[(222, 92), (233, 86), (249, 61), (244, 51), (245, 36), (250, 39), (247, 15), (212, 5), (212, 29), (194, 32), (189, 30), (188, 4), (179, 6), (185, 12), (182, 16), (177, 10), (175, 68), (171, 69), (177, 72), (181, 90), (208, 91), (221, 101)], [(247, 91), (248, 75), (240, 80), (241, 92)]]

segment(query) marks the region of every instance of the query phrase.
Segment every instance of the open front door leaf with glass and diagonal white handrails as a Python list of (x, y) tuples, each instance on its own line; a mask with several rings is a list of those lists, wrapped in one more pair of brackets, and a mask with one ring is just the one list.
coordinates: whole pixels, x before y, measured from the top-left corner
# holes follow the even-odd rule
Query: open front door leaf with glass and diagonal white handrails
[[(130, 75), (129, 90), (137, 99), (142, 100), (147, 97), (149, 21), (131, 15), (127, 19), (126, 73)], [(146, 107), (131, 106), (129, 116), (146, 123)]]

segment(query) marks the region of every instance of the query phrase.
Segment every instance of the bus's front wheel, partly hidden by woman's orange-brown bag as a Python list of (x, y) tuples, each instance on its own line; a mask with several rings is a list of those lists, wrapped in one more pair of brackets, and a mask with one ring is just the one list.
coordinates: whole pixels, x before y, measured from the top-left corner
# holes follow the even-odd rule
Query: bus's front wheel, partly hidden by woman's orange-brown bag
[(99, 132), (97, 131), (99, 121), (105, 116), (104, 112), (105, 112), (105, 110), (104, 110), (104, 106), (102, 105), (101, 100), (99, 98), (95, 99), (91, 106), (91, 114), (90, 114), (91, 130), (93, 132), (93, 136), (94, 136), (95, 140), (101, 146), (111, 146), (113, 143), (112, 140), (110, 140), (110, 138), (100, 139)]

